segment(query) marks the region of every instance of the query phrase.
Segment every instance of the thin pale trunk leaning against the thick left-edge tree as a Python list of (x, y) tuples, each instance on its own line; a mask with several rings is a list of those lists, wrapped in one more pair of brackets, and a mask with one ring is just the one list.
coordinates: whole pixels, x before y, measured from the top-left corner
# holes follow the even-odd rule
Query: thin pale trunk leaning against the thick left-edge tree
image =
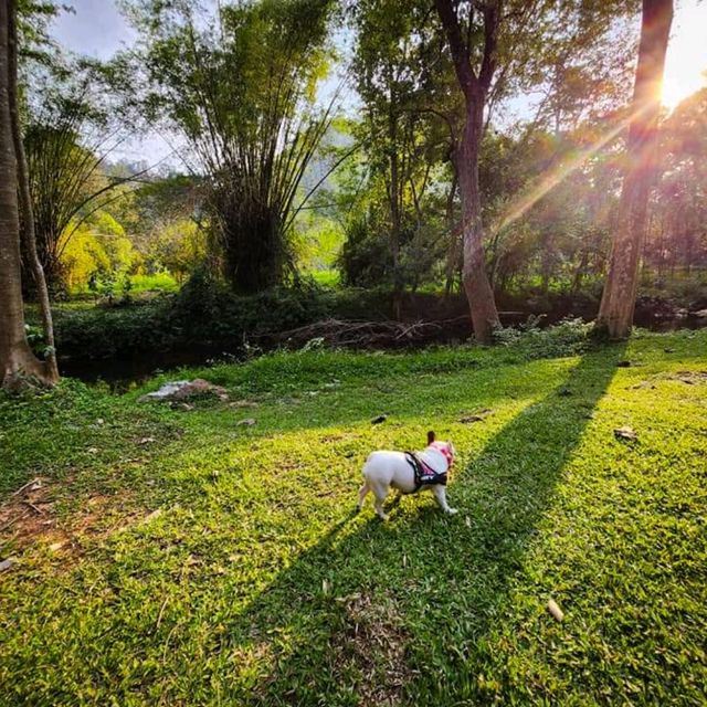
[(34, 285), (42, 315), (42, 326), (44, 329), (44, 340), (49, 354), (46, 356), (46, 376), (51, 382), (59, 380), (59, 368), (56, 366), (56, 349), (54, 346), (54, 324), (52, 321), (52, 309), (49, 299), (49, 289), (44, 277), (44, 268), (36, 252), (36, 234), (34, 231), (34, 213), (32, 209), (32, 197), (30, 194), (30, 177), (22, 144), (22, 130), (20, 128), (20, 109), (18, 105), (18, 28), (17, 28), (17, 0), (10, 0), (10, 118), (12, 120), (12, 140), (14, 144), (14, 155), (18, 165), (19, 198), (24, 224), (24, 246), (29, 256), (30, 266), (34, 276)]

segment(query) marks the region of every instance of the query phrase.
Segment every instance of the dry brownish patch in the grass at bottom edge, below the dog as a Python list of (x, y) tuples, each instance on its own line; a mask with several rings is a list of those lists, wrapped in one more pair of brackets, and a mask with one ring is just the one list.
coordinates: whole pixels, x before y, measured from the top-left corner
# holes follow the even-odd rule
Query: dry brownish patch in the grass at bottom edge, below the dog
[(400, 705), (405, 675), (402, 621), (392, 601), (374, 602), (366, 594), (342, 598), (345, 627), (330, 640), (337, 673), (360, 675), (361, 707)]

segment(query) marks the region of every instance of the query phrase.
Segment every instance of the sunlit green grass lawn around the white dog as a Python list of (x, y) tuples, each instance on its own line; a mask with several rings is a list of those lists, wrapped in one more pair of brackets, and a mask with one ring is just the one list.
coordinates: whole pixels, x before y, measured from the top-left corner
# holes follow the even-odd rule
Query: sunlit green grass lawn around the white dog
[[(704, 705), (706, 351), (278, 354), (189, 371), (231, 402), (188, 412), (137, 402), (158, 380), (0, 398), (0, 703)], [(431, 428), (458, 515), (354, 515), (367, 454)]]

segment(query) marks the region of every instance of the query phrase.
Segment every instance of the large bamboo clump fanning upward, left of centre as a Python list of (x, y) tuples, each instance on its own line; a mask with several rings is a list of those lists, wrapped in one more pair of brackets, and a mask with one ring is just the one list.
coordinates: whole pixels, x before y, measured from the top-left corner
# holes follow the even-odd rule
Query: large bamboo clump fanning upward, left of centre
[(329, 122), (329, 0), (224, 4), (197, 22), (187, 2), (131, 3), (145, 36), (145, 105), (187, 140), (209, 182), (211, 244), (232, 286), (283, 282), (304, 171)]

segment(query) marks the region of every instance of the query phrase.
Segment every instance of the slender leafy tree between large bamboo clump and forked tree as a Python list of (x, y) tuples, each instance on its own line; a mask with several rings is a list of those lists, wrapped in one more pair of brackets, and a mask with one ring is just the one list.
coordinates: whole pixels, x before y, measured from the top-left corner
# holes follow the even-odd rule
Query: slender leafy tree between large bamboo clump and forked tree
[[(369, 189), (378, 181), (383, 186), (387, 214), (381, 225), (388, 234), (393, 315), (399, 317), (405, 281), (416, 279), (425, 260), (414, 253), (411, 267), (409, 256), (420, 250), (415, 242), (428, 230), (425, 202), (435, 168), (449, 154), (437, 96), (431, 95), (432, 66), (446, 65), (440, 62), (439, 22), (424, 0), (361, 0), (352, 17), (357, 42), (351, 68), (365, 115), (358, 133)], [(425, 242), (428, 253), (436, 250), (431, 245)]]

